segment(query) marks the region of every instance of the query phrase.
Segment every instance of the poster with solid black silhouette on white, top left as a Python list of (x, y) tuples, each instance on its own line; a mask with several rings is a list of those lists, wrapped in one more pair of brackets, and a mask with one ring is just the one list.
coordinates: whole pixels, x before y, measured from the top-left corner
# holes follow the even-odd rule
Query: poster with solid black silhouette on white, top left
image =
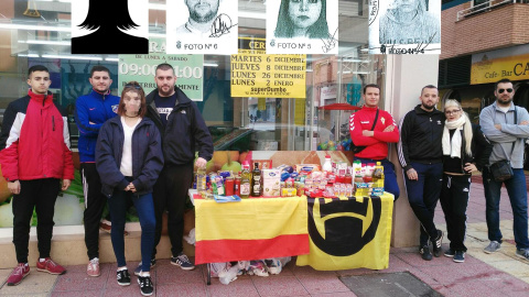
[(149, 0), (76, 0), (72, 54), (149, 53)]

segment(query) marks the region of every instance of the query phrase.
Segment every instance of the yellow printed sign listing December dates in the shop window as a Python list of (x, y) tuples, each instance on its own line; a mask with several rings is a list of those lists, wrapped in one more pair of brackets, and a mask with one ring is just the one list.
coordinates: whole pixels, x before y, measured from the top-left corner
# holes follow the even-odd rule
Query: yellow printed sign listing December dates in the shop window
[(266, 40), (239, 38), (231, 55), (231, 96), (305, 98), (306, 55), (267, 55)]

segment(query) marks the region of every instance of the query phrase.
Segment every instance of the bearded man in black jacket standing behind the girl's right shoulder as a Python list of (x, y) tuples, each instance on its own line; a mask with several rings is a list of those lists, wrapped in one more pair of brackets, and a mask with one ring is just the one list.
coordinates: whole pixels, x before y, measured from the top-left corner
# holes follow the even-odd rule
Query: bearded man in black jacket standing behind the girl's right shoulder
[[(177, 87), (173, 66), (160, 64), (154, 80), (158, 88), (147, 96), (147, 117), (160, 130), (164, 166), (154, 185), (152, 197), (156, 232), (151, 266), (155, 264), (156, 245), (162, 235), (162, 215), (168, 210), (168, 234), (171, 241), (171, 264), (191, 271), (195, 266), (183, 253), (184, 207), (193, 184), (193, 165), (206, 166), (213, 156), (213, 140), (195, 102)], [(195, 164), (195, 151), (198, 158)], [(141, 272), (140, 266), (134, 274)]]

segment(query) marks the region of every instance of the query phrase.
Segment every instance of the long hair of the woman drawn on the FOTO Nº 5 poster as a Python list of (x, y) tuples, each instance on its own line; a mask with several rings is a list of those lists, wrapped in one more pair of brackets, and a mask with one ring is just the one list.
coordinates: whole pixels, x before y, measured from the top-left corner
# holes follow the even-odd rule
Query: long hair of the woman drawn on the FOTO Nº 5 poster
[[(327, 25), (327, 3), (326, 0), (322, 1), (322, 11), (316, 22), (312, 24), (307, 32), (309, 38), (328, 38), (328, 25)], [(281, 0), (281, 7), (279, 8), (278, 24), (276, 25), (276, 37), (292, 37), (294, 32), (294, 24), (289, 15), (290, 0)]]

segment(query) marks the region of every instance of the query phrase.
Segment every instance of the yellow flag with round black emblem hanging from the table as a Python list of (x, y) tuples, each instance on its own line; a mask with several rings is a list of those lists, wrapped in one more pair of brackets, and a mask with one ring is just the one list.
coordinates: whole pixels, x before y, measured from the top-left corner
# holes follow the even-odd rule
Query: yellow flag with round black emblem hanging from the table
[(393, 197), (307, 198), (310, 253), (296, 265), (316, 271), (385, 270)]

